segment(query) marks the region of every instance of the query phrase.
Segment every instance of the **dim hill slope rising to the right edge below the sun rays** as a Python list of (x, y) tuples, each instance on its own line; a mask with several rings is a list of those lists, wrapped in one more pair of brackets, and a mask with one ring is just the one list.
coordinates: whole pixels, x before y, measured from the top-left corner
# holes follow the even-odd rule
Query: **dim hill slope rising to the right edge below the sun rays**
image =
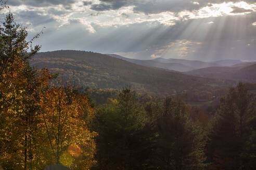
[(231, 79), (242, 80), (246, 82), (256, 82), (256, 63), (240, 63), (231, 67), (208, 67), (191, 70), (185, 74), (215, 78), (215, 79)]

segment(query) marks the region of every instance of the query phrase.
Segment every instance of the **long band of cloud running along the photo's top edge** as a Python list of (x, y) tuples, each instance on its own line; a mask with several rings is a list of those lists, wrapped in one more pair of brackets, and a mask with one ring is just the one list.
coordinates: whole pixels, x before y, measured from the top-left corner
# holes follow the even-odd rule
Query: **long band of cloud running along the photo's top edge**
[[(118, 10), (122, 7), (132, 6), (134, 12), (142, 12), (146, 15), (157, 14), (161, 12), (181, 12), (181, 11), (194, 11), (203, 7), (210, 7), (212, 4), (221, 3), (241, 3), (240, 0), (97, 0), (97, 1), (81, 1), (81, 0), (8, 0), (8, 5), (19, 6), (27, 5), (33, 7), (49, 7), (54, 5), (62, 5), (67, 9), (71, 9), (72, 4), (81, 3), (84, 6), (91, 6), (92, 10), (107, 11)], [(254, 4), (255, 0), (244, 0), (244, 3)], [(255, 6), (254, 6), (255, 7)], [(234, 13), (239, 10), (234, 8)], [(246, 12), (251, 9), (245, 9)]]

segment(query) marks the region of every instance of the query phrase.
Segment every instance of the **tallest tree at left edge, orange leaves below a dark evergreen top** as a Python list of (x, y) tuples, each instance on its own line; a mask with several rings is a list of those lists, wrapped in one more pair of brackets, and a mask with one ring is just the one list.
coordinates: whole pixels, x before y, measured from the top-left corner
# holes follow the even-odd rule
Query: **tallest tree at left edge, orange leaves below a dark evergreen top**
[(26, 169), (28, 160), (33, 158), (31, 127), (36, 109), (35, 91), (49, 78), (43, 80), (29, 65), (29, 59), (40, 47), (31, 45), (39, 34), (31, 41), (26, 40), (27, 35), (27, 30), (16, 24), (9, 13), (0, 28), (0, 160), (8, 169)]

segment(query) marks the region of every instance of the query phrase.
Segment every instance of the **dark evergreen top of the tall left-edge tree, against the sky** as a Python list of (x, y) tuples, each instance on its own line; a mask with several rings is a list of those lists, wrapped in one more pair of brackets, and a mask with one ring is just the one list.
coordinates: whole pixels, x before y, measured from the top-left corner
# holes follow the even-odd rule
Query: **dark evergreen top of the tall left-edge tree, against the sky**
[[(40, 46), (32, 47), (32, 42), (39, 37), (41, 33), (36, 34), (30, 41), (27, 41), (27, 30), (14, 21), (14, 16), (9, 13), (3, 27), (0, 27), (0, 78), (3, 78), (4, 72), (11, 69), (10, 65), (17, 58), (20, 58), (25, 64), (29, 64), (29, 59), (40, 50)], [(28, 50), (31, 50), (28, 52)]]

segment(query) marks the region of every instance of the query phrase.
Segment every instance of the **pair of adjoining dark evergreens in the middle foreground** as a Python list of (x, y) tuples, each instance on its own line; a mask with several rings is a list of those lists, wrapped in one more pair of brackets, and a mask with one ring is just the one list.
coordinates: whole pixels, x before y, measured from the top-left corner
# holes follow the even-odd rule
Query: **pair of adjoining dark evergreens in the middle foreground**
[(97, 168), (202, 169), (204, 133), (185, 104), (168, 97), (144, 107), (135, 96), (124, 89), (98, 110)]

